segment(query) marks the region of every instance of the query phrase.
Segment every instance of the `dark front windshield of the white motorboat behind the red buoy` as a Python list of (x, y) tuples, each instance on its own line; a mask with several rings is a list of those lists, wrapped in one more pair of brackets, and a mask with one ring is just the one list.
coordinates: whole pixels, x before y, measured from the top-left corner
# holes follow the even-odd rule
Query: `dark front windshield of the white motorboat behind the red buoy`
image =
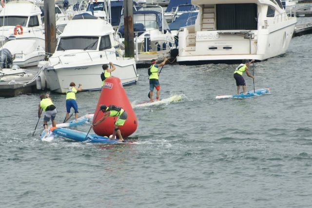
[(64, 37), (60, 38), (57, 51), (97, 50), (98, 37)]

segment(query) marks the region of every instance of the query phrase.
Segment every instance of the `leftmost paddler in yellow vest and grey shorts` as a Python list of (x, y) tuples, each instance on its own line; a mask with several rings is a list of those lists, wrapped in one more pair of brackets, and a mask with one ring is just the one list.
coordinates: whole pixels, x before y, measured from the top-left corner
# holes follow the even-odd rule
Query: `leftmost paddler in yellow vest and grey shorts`
[(56, 127), (57, 122), (55, 121), (55, 116), (58, 113), (57, 108), (52, 102), (49, 94), (40, 95), (40, 104), (38, 108), (38, 117), (40, 118), (41, 108), (45, 111), (45, 115), (43, 118), (43, 128), (45, 131), (45, 135), (48, 133), (48, 121), (51, 119), (52, 126)]

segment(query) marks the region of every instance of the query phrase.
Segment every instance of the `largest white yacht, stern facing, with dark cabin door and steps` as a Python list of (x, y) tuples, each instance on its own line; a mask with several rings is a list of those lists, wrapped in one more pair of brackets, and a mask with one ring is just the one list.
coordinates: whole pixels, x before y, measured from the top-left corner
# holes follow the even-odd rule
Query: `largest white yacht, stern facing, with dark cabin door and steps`
[(264, 60), (284, 54), (295, 16), (280, 0), (192, 0), (199, 7), (195, 25), (178, 33), (179, 63)]

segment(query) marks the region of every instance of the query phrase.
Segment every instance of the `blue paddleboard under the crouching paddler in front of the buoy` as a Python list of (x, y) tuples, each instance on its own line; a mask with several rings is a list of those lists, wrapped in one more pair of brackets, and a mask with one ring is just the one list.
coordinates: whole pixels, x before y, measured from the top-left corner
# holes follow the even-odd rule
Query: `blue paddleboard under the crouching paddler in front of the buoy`
[[(66, 129), (66, 128), (56, 128), (53, 130), (53, 133), (59, 136), (63, 136), (67, 139), (71, 139), (74, 141), (78, 142), (91, 142), (91, 143), (131, 143), (134, 144), (134, 142), (131, 141), (122, 141), (122, 142), (117, 142), (116, 140), (109, 140), (107, 136), (99, 136), (97, 134), (88, 134), (86, 132), (80, 132), (77, 130), (72, 130), (72, 129)], [(86, 138), (87, 136), (87, 138)]]

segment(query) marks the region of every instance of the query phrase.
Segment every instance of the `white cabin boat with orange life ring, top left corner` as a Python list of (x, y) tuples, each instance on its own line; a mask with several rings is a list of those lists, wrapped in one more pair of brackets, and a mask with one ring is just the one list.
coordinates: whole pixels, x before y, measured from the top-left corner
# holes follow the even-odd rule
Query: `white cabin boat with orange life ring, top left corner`
[(9, 1), (0, 11), (0, 46), (10, 38), (33, 39), (45, 47), (44, 27), (37, 5), (27, 0)]

